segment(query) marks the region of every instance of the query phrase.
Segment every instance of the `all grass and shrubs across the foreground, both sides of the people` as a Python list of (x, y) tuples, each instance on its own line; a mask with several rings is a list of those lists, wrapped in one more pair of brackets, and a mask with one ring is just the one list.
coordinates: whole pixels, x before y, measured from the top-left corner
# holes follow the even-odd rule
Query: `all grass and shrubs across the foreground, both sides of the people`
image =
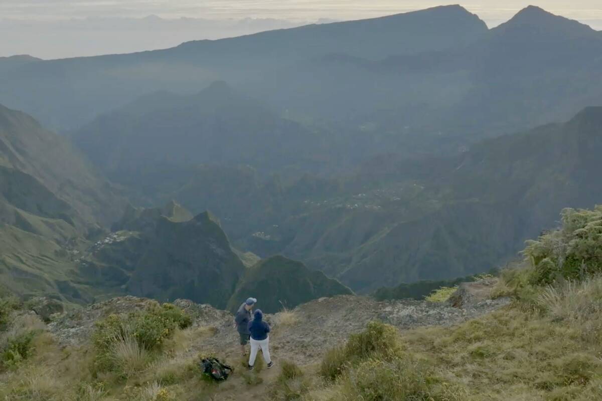
[(39, 319), (5, 299), (0, 399), (209, 400), (252, 391), (282, 401), (599, 400), (602, 208), (565, 210), (562, 221), (529, 242), (524, 265), (501, 272), (497, 295), (515, 300), (502, 310), (453, 328), (403, 333), (371, 322), (320, 366), (282, 361), (276, 376), (233, 376), (219, 386), (182, 353), (202, 334), (185, 328), (175, 307), (120, 322), (108, 317), (94, 347), (60, 349)]

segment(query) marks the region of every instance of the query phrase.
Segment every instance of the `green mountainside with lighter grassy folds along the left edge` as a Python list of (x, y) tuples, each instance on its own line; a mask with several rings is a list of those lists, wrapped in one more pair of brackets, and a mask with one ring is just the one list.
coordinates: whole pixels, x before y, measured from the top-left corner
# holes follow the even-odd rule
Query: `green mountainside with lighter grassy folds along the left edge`
[(76, 148), (0, 106), (0, 279), (19, 296), (88, 302), (77, 254), (122, 199)]

